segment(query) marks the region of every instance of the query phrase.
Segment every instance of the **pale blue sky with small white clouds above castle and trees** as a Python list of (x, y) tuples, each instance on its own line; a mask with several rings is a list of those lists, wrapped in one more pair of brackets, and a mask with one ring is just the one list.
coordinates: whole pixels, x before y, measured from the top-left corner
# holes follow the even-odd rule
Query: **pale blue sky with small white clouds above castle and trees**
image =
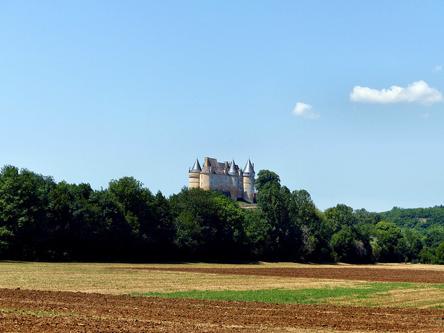
[(1, 1), (0, 164), (166, 196), (248, 157), (320, 210), (444, 204), (442, 1)]

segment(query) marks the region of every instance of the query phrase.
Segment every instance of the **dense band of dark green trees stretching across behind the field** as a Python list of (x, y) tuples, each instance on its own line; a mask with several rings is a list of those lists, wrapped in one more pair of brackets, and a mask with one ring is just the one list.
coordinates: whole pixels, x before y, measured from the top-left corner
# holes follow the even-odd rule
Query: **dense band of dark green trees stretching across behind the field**
[(444, 264), (444, 207), (384, 213), (336, 205), (257, 173), (257, 207), (186, 187), (166, 198), (133, 177), (107, 189), (0, 172), (0, 259)]

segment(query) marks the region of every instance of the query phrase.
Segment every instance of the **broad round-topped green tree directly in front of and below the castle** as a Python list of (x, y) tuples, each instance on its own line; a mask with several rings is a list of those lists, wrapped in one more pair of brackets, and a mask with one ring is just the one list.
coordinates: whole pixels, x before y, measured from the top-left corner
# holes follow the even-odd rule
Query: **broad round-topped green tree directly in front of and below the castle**
[(170, 203), (181, 259), (242, 259), (244, 214), (231, 198), (183, 188), (171, 196)]

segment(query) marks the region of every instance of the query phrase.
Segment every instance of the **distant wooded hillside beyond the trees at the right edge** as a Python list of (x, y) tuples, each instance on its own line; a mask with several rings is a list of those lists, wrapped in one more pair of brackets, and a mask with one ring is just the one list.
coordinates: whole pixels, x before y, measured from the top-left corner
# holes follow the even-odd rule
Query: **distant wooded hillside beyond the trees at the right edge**
[(379, 213), (384, 220), (391, 221), (400, 228), (415, 228), (416, 230), (426, 230), (431, 225), (438, 224), (444, 226), (444, 206), (429, 208), (400, 208), (393, 207), (388, 212)]

